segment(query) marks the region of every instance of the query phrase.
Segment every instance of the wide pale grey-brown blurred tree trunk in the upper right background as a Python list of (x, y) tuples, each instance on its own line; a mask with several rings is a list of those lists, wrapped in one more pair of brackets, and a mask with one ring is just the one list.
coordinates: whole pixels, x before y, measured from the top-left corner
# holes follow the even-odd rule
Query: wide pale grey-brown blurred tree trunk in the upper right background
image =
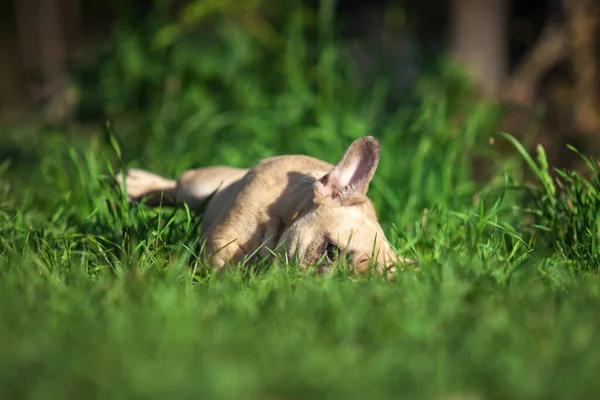
[(496, 96), (507, 74), (508, 1), (452, 0), (451, 47), (485, 95)]

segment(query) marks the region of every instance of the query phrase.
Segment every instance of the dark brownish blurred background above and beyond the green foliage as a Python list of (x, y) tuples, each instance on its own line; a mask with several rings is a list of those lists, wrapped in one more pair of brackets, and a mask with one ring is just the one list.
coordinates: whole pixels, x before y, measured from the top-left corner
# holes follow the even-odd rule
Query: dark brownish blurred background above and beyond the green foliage
[[(186, 34), (203, 38), (213, 34), (220, 19), (247, 25), (250, 32), (260, 32), (264, 24), (278, 30), (285, 28), (291, 7), (302, 3), (316, 12), (323, 6), (316, 0), (3, 2), (0, 121), (100, 123), (106, 113), (76, 96), (73, 88), (82, 85), (77, 77), (95, 79), (111, 32), (127, 26), (139, 33), (149, 21), (181, 21), (191, 3), (212, 7), (186, 25)], [(559, 166), (572, 166), (575, 160), (566, 144), (598, 153), (599, 1), (340, 0), (333, 12), (332, 35), (353, 54), (367, 84), (382, 68), (388, 73), (391, 68), (393, 88), (401, 97), (428, 63), (450, 58), (472, 73), (478, 96), (505, 107), (499, 130), (520, 138), (531, 134), (531, 143), (543, 144)]]

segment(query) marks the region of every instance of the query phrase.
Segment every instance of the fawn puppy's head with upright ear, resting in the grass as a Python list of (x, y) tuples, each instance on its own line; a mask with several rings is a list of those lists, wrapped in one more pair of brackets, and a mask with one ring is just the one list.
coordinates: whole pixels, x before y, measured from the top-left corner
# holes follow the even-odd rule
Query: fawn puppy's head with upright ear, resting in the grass
[(402, 258), (390, 248), (367, 198), (378, 163), (379, 142), (363, 137), (315, 181), (312, 207), (282, 235), (288, 257), (297, 257), (301, 267), (321, 271), (340, 258), (359, 273), (371, 266), (380, 272), (395, 270)]

